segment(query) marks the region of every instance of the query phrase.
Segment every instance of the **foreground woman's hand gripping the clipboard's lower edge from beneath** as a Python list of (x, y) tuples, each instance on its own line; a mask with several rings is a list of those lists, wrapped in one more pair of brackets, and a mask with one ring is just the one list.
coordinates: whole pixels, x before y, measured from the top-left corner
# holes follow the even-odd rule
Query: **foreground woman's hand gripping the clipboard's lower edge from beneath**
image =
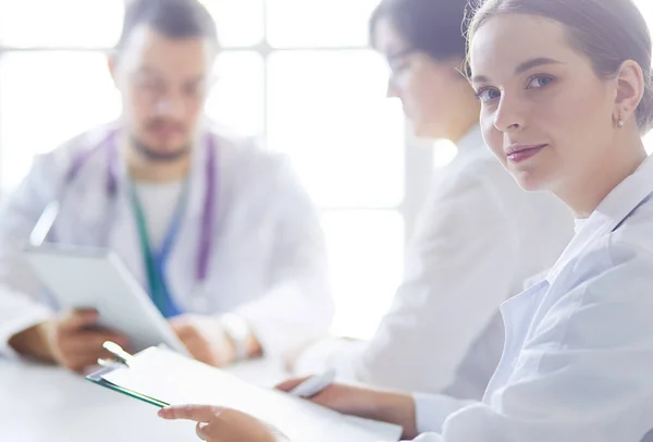
[(287, 439), (255, 417), (211, 405), (180, 405), (162, 408), (163, 419), (197, 422), (197, 437), (207, 442), (281, 442)]

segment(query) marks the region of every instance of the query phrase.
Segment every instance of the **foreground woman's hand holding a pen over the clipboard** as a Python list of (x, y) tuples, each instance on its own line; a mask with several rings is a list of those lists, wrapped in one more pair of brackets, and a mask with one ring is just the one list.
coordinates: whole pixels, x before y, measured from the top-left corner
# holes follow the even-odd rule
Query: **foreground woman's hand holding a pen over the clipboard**
[[(289, 392), (307, 379), (291, 379), (276, 389)], [(405, 438), (417, 437), (415, 401), (409, 394), (333, 383), (308, 401), (344, 415), (396, 423), (404, 428)]]

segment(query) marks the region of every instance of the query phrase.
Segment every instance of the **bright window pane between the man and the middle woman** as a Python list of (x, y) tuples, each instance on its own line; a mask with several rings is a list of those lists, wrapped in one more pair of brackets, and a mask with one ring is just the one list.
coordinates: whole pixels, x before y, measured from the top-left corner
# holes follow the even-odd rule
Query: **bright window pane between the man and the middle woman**
[(401, 109), (385, 105), (379, 62), (367, 50), (274, 51), (269, 58), (270, 147), (292, 156), (322, 207), (402, 202)]

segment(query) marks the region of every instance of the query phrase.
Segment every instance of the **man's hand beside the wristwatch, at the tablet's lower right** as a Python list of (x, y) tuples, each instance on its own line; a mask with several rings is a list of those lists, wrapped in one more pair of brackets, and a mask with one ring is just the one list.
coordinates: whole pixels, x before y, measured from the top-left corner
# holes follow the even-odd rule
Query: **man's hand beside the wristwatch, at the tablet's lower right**
[(170, 321), (172, 329), (193, 357), (213, 367), (236, 359), (236, 349), (217, 318), (183, 315)]

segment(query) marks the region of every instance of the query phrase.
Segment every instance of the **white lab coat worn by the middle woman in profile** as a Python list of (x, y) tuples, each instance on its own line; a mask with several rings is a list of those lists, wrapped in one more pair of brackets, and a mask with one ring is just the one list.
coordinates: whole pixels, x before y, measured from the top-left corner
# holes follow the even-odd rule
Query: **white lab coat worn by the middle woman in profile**
[(572, 235), (568, 208), (523, 192), (477, 126), (433, 187), (372, 340), (322, 341), (297, 370), (333, 366), (341, 379), (481, 400), (503, 348), (500, 305), (553, 266)]

